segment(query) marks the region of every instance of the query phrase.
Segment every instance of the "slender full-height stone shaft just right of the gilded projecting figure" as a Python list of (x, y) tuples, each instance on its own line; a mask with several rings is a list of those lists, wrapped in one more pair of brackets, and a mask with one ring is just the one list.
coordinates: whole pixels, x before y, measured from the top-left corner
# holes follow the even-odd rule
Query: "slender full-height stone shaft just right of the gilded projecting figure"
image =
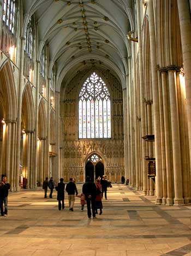
[[(142, 60), (142, 33), (141, 33), (141, 15), (140, 15), (140, 1), (137, 4), (137, 19), (138, 19), (138, 47), (139, 47), (139, 88), (140, 88), (140, 109), (141, 109), (141, 138), (146, 135), (145, 129), (145, 93), (144, 93), (144, 71)], [(142, 9), (142, 7), (141, 7)], [(143, 178), (143, 191), (147, 194), (147, 168), (146, 168), (146, 145), (145, 141), (141, 141), (141, 161), (142, 161), (142, 178)]]

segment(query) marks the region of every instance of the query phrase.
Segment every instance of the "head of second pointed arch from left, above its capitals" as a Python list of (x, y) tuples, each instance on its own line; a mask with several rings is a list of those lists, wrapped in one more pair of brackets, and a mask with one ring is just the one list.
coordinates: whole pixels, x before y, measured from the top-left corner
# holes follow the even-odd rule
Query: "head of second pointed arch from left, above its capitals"
[(22, 122), (25, 130), (34, 130), (34, 100), (31, 86), (27, 83), (22, 95)]

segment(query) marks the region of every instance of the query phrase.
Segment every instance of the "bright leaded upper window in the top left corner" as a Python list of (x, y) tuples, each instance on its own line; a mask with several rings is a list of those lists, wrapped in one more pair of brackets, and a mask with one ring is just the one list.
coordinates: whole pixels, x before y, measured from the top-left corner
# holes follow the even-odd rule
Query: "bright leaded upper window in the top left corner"
[(9, 30), (15, 31), (15, 0), (3, 0), (3, 21)]

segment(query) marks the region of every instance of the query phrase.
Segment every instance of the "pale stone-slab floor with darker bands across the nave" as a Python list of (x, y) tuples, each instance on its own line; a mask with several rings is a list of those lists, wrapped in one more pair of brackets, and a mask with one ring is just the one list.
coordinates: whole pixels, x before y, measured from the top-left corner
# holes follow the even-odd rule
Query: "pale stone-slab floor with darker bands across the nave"
[[(81, 192), (82, 185), (77, 185)], [(8, 217), (0, 217), (0, 255), (191, 256), (191, 206), (156, 206), (126, 185), (114, 184), (103, 214), (88, 219), (76, 197), (74, 212), (58, 211), (56, 192), (9, 194)]]

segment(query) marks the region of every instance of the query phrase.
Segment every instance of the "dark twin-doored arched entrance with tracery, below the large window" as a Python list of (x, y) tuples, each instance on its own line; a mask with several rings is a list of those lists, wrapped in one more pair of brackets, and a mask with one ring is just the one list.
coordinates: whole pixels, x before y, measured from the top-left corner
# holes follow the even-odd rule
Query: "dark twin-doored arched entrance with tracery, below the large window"
[(91, 181), (95, 181), (99, 176), (104, 175), (104, 164), (102, 163), (102, 158), (100, 158), (96, 153), (88, 158), (86, 163), (86, 173), (85, 176), (89, 176)]

